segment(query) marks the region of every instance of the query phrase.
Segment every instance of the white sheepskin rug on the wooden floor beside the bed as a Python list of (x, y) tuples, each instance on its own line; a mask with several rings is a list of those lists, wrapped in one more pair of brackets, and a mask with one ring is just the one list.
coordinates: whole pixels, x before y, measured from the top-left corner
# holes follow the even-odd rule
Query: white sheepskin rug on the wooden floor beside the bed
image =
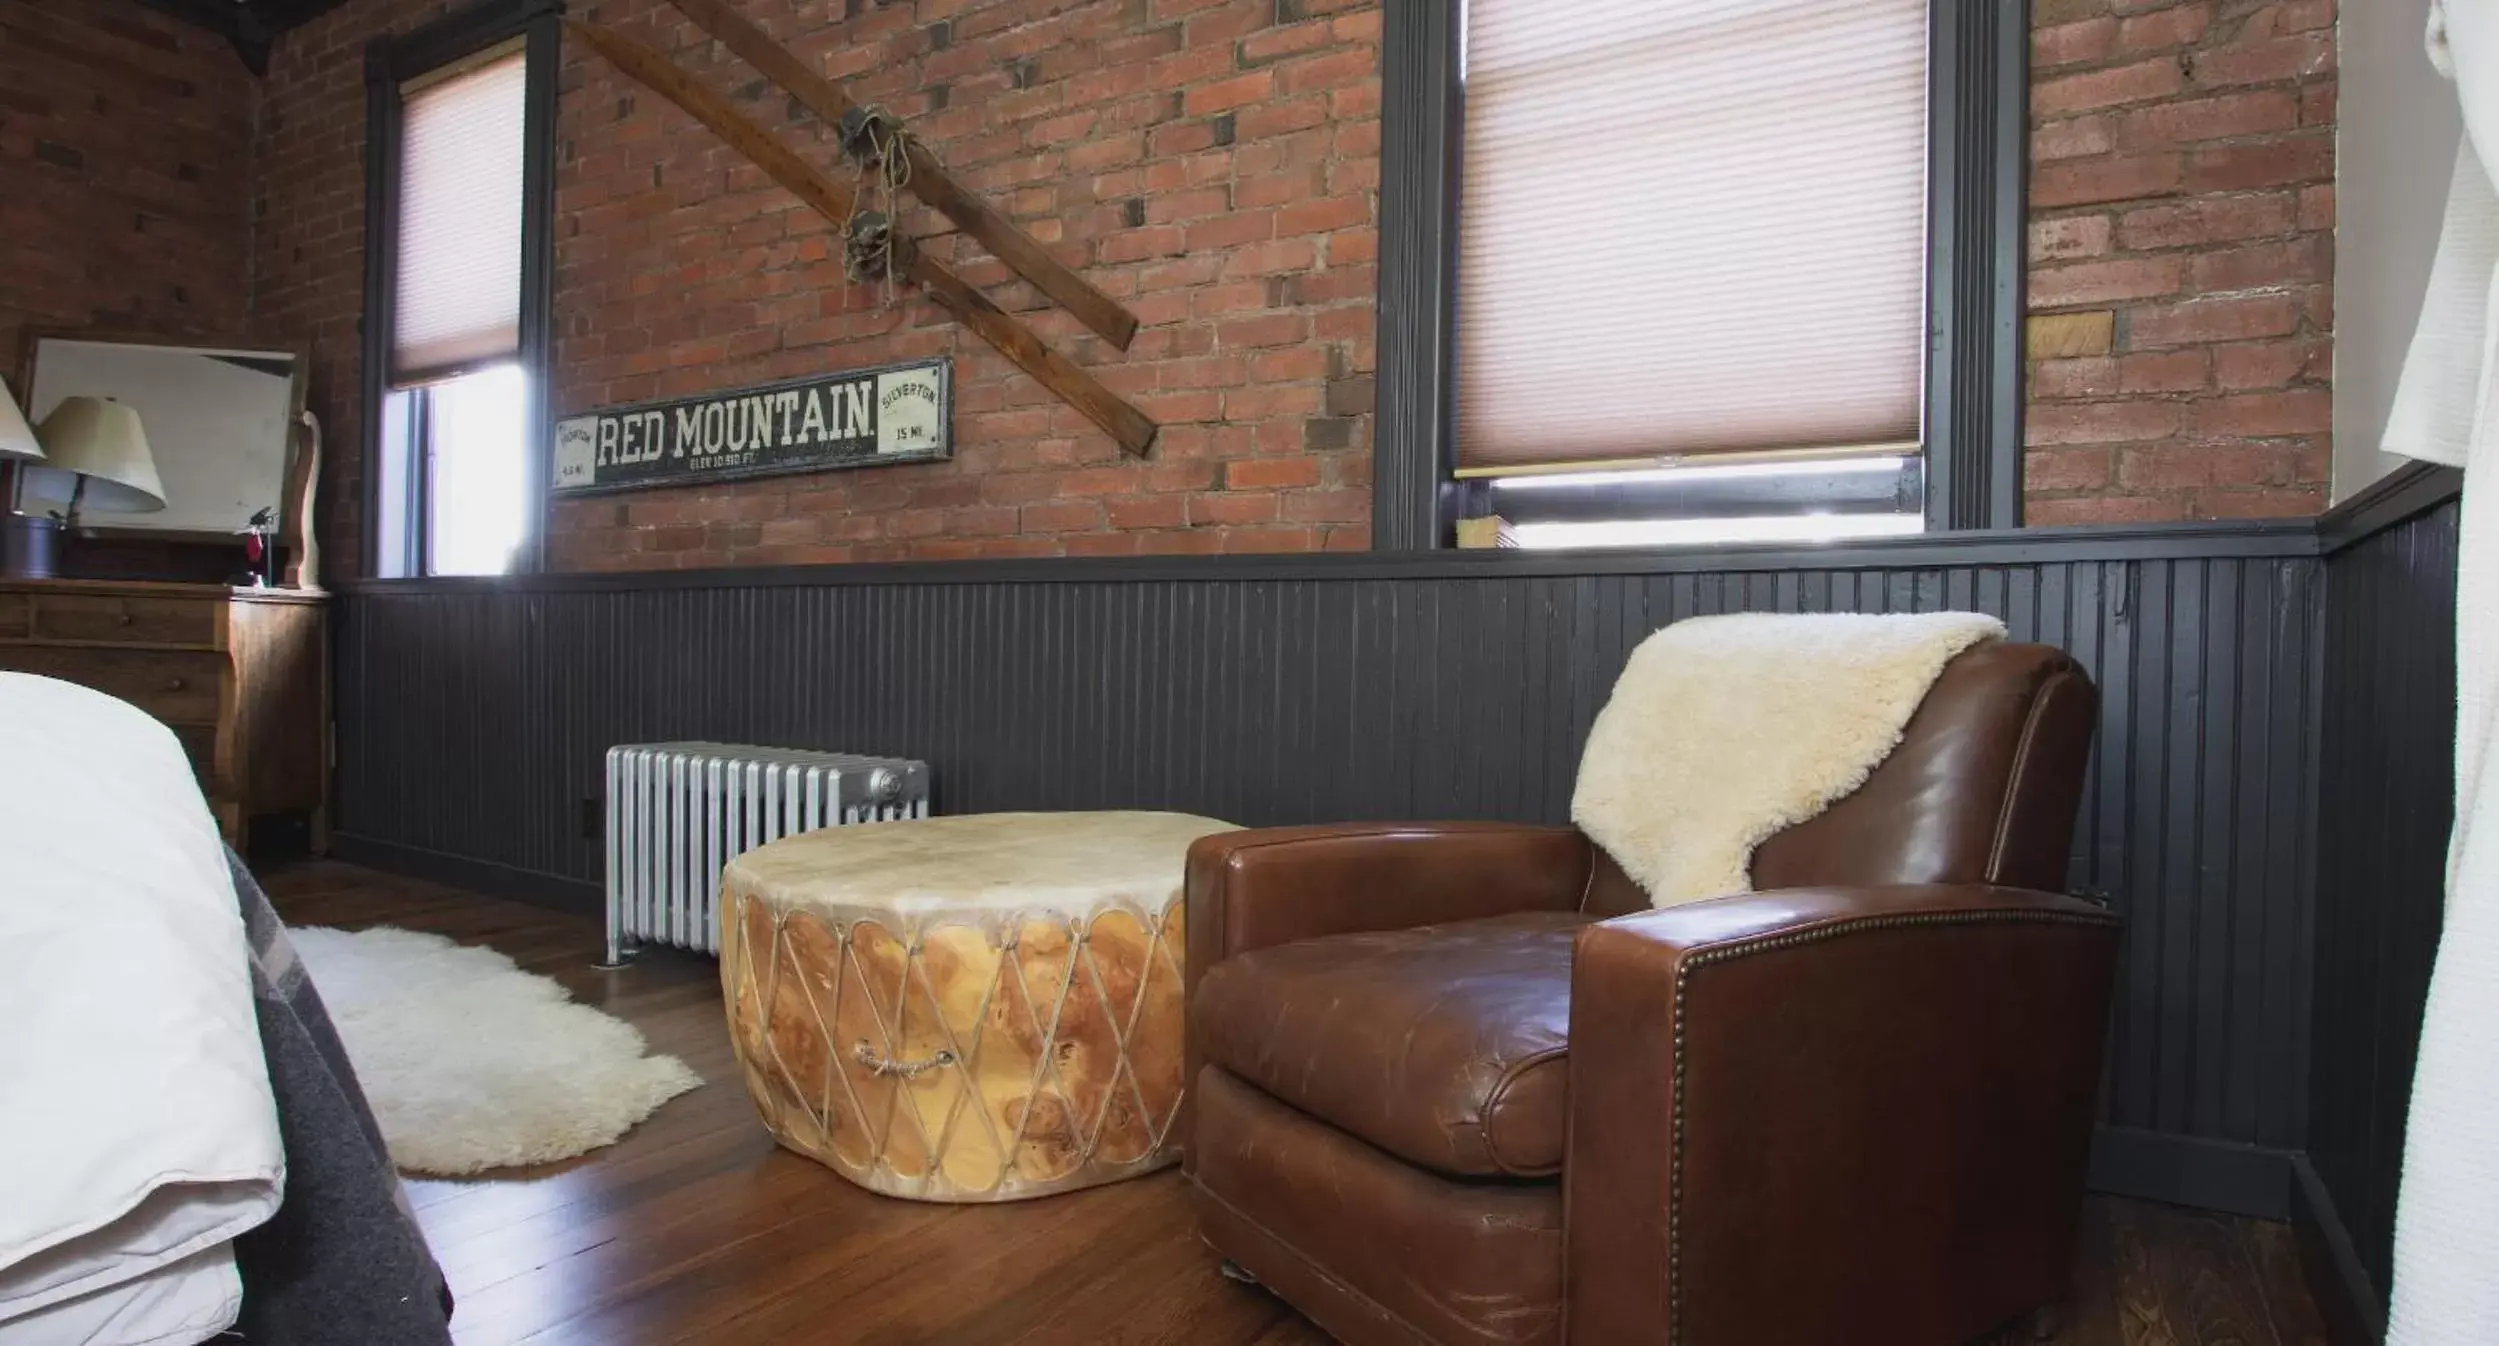
[(290, 929), (390, 1159), (460, 1176), (612, 1144), (702, 1084), (632, 1024), (492, 949), (405, 929)]

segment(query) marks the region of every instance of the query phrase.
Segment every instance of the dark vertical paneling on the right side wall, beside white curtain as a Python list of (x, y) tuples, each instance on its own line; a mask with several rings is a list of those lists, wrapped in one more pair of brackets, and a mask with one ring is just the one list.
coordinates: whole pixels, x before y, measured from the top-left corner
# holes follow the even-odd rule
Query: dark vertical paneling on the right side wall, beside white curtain
[(2457, 502), (2334, 552), (2327, 589), (2307, 1144), (2384, 1296), (2454, 819)]

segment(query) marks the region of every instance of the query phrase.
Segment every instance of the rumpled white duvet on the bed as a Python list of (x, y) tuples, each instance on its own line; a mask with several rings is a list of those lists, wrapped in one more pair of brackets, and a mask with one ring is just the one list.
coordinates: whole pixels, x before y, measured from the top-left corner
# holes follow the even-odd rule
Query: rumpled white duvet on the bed
[(182, 747), (0, 674), (0, 1346), (205, 1341), (285, 1159), (250, 949)]

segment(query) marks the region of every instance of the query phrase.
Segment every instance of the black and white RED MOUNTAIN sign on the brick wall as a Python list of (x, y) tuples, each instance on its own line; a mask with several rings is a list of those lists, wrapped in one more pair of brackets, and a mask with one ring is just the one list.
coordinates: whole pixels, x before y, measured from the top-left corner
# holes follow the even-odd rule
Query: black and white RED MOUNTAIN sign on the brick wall
[(585, 494), (955, 457), (945, 360), (607, 407), (555, 422), (555, 492)]

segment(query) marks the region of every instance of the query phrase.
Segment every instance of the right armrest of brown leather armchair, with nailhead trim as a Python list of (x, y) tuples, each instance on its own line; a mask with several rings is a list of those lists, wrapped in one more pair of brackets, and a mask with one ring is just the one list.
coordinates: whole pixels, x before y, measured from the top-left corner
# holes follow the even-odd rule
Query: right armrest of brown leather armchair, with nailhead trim
[(2117, 916), (1784, 889), (1572, 956), (1569, 1341), (1967, 1341), (2064, 1291)]

